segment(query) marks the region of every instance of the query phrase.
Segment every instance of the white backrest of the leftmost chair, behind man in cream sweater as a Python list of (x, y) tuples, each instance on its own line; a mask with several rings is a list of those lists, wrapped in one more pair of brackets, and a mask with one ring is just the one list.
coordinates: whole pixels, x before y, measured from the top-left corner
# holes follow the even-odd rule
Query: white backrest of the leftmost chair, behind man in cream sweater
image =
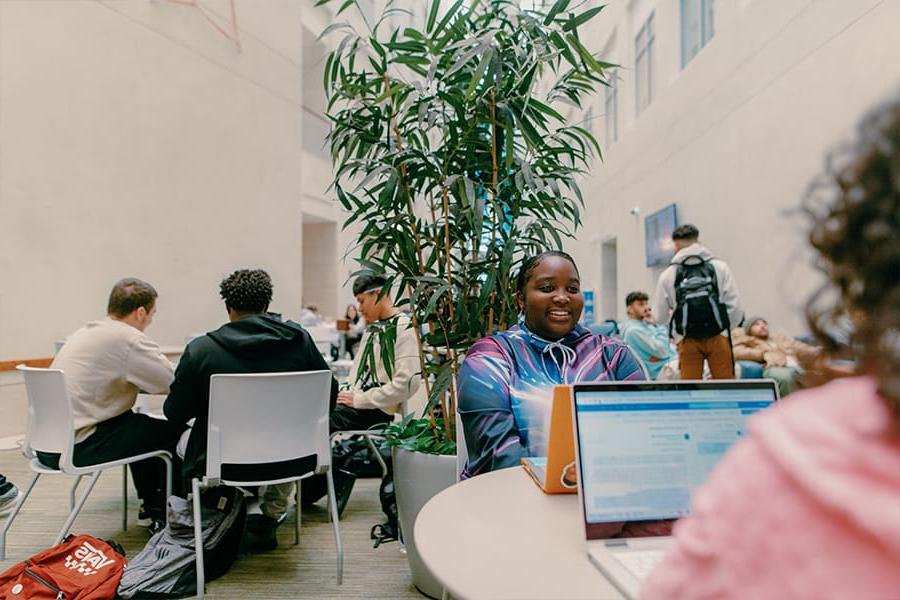
[(38, 369), (19, 365), (28, 395), (28, 426), (22, 452), (34, 458), (34, 451), (60, 454), (60, 468), (71, 466), (75, 425), (66, 377), (60, 369)]

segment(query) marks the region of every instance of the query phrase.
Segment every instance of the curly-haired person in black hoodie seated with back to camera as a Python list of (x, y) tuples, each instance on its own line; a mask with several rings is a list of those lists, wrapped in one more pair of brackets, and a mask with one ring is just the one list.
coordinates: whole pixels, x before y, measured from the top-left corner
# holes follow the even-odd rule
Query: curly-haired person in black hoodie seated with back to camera
[[(187, 423), (196, 419), (182, 467), (187, 482), (192, 477), (202, 477), (206, 471), (211, 375), (328, 369), (303, 327), (267, 312), (272, 300), (272, 280), (268, 273), (259, 269), (235, 271), (222, 281), (219, 293), (225, 301), (229, 322), (187, 345), (163, 405), (163, 412), (171, 422)], [(332, 378), (331, 410), (334, 410), (337, 389), (337, 382)], [(248, 407), (248, 410), (253, 409)], [(260, 436), (264, 443), (265, 432), (260, 432)], [(189, 484), (186, 489), (190, 489)], [(268, 486), (260, 505), (262, 514), (248, 517), (250, 545), (255, 549), (277, 547), (275, 527), (287, 511), (292, 489), (293, 484)]]

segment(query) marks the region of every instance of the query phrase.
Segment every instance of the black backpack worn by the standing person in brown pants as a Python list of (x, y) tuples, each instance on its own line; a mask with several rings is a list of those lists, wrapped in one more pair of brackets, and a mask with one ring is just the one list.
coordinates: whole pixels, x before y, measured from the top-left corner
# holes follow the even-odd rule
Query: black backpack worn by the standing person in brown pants
[(730, 329), (728, 310), (719, 302), (719, 282), (710, 259), (697, 254), (675, 263), (675, 311), (669, 322), (687, 338), (708, 338)]

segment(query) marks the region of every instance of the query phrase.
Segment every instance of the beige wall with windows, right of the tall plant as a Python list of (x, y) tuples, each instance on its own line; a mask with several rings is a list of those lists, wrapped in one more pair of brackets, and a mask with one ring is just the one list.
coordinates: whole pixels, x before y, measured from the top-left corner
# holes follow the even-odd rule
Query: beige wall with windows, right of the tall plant
[[(636, 115), (634, 36), (650, 10), (654, 94)], [(616, 238), (619, 296), (652, 291), (659, 270), (645, 266), (644, 217), (675, 202), (680, 222), (731, 264), (746, 310), (801, 333), (815, 278), (802, 221), (786, 211), (861, 112), (900, 93), (900, 2), (718, 0), (715, 35), (684, 69), (678, 11), (668, 0), (612, 2), (597, 18), (595, 47), (614, 38), (604, 58), (624, 67), (619, 140), (584, 183), (585, 230), (572, 250), (599, 288), (602, 244)], [(602, 142), (602, 94), (593, 105)], [(598, 317), (624, 317), (622, 298), (610, 312)]]

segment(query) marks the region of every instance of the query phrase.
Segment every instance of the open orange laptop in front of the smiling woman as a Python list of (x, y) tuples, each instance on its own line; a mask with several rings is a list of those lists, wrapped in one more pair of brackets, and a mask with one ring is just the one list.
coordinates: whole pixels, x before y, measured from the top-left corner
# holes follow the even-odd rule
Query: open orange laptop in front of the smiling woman
[[(572, 386), (553, 387), (550, 409), (550, 431), (547, 433), (547, 456), (522, 459), (525, 472), (548, 494), (574, 494), (578, 491), (575, 477), (566, 467), (575, 464), (575, 438), (572, 435)], [(574, 475), (574, 470), (571, 475)]]

